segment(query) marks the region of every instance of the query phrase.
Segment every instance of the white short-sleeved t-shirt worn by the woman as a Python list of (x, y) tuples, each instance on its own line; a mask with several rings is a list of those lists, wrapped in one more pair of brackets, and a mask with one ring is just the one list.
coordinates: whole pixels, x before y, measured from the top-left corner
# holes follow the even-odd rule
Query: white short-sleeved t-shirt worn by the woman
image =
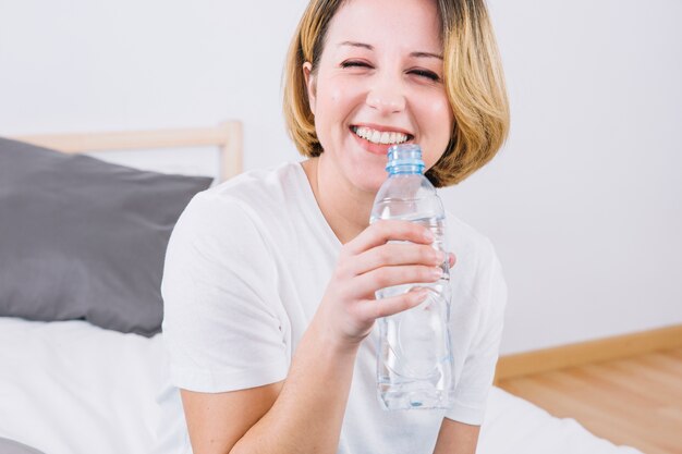
[[(451, 271), (455, 405), (383, 410), (375, 329), (357, 354), (339, 454), (430, 453), (443, 417), (483, 422), (507, 289), (490, 242), (452, 214), (447, 222), (458, 258)], [(246, 172), (196, 195), (173, 230), (163, 271), (170, 383), (212, 393), (283, 380), (340, 248), (300, 163)], [(176, 388), (159, 398), (167, 413), (160, 439), (163, 452), (188, 453)]]

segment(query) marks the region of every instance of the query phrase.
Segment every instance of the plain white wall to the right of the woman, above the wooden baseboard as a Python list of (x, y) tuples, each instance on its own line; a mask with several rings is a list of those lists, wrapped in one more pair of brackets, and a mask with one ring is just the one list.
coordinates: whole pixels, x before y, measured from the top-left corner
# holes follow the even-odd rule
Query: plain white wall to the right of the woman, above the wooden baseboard
[(502, 351), (682, 322), (682, 3), (491, 9), (512, 132), (448, 201), (503, 262)]

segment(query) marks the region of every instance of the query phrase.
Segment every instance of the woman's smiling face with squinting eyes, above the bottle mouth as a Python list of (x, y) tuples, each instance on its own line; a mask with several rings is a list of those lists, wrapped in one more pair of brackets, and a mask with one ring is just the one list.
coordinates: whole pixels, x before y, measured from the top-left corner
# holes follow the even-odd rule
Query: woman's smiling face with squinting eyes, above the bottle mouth
[(318, 68), (303, 69), (334, 177), (376, 193), (390, 145), (419, 144), (427, 169), (443, 154), (453, 114), (439, 27), (433, 0), (350, 0), (334, 14)]

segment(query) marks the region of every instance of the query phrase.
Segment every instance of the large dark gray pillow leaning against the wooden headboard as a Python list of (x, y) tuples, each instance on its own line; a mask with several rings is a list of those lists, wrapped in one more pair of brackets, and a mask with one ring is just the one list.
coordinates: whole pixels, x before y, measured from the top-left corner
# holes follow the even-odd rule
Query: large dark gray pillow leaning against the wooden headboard
[(168, 240), (210, 183), (0, 138), (0, 316), (160, 332)]

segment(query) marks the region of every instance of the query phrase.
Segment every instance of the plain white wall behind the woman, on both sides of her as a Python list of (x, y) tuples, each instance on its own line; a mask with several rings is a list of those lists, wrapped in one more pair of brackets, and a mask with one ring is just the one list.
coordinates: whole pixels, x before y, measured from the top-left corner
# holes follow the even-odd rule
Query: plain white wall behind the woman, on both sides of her
[[(236, 118), (247, 169), (296, 159), (280, 82), (304, 5), (0, 0), (0, 134)], [(443, 198), (504, 265), (502, 352), (682, 322), (682, 3), (490, 9), (512, 133)]]

